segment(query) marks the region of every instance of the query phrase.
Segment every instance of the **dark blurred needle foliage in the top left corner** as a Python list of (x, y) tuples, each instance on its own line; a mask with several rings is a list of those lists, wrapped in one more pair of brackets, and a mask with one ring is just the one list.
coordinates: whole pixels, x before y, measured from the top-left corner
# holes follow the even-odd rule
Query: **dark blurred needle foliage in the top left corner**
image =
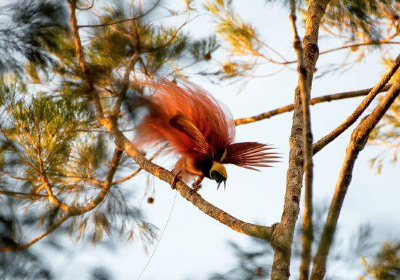
[(47, 50), (57, 50), (57, 33), (66, 29), (59, 1), (16, 1), (0, 7), (0, 73), (22, 70), (25, 62), (51, 63)]

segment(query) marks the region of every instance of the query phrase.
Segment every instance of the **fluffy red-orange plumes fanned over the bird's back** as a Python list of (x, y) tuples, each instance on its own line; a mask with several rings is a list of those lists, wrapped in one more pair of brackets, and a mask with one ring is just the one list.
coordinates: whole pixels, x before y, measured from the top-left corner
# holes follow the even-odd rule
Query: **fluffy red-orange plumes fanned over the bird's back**
[(145, 97), (148, 114), (136, 128), (137, 146), (169, 143), (172, 152), (214, 158), (233, 142), (235, 124), (228, 110), (204, 89), (188, 82), (143, 82), (152, 88)]

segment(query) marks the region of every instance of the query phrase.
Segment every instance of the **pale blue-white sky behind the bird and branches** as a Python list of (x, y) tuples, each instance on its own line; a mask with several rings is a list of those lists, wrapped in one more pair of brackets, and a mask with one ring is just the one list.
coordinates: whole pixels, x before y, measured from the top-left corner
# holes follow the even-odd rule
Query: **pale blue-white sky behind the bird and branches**
[[(287, 10), (277, 5), (265, 5), (264, 1), (252, 1), (249, 4), (249, 1), (236, 0), (234, 3), (235, 9), (240, 11), (245, 20), (253, 23), (268, 44), (285, 57), (295, 58)], [(194, 36), (214, 32), (213, 23), (208, 17), (199, 17), (188, 29)], [(303, 31), (302, 28), (300, 30)], [(336, 41), (326, 40), (321, 42), (320, 50), (335, 45)], [(393, 53), (395, 52), (393, 49)], [(343, 52), (321, 56), (317, 68), (341, 61), (343, 56)], [(263, 67), (260, 73), (268, 74), (272, 69)], [(315, 80), (312, 97), (372, 87), (383, 72), (384, 66), (379, 56), (372, 54), (342, 75), (327, 75)], [(226, 104), (234, 118), (241, 118), (292, 103), (297, 73), (284, 70), (269, 78), (254, 79), (239, 93), (237, 85), (217, 86), (200, 78), (194, 81)], [(356, 98), (312, 107), (314, 140), (320, 139), (339, 125), (361, 100), (362, 98)], [(217, 191), (216, 184), (206, 180), (200, 190), (202, 197), (247, 222), (263, 225), (279, 222), (284, 203), (291, 118), (292, 114), (287, 113), (269, 120), (239, 126), (237, 141), (271, 144), (281, 153), (282, 161), (273, 168), (263, 169), (262, 172), (228, 166), (229, 181), (226, 190)], [(332, 197), (352, 129), (354, 126), (314, 157), (316, 202), (328, 202)], [(380, 151), (379, 148), (367, 146), (358, 157), (341, 212), (340, 225), (350, 233), (357, 230), (360, 224), (368, 222), (374, 227), (380, 240), (386, 240), (394, 238), (400, 229), (400, 219), (395, 218), (400, 216), (400, 188), (398, 179), (395, 180), (398, 178), (399, 167), (386, 167), (382, 174), (377, 175), (375, 170), (369, 167), (369, 160)], [(170, 169), (173, 166), (173, 161), (170, 160), (159, 163)], [(146, 178), (147, 176), (142, 174), (122, 187), (135, 189), (140, 200), (145, 191)], [(155, 203), (149, 205), (144, 200), (142, 207), (148, 220), (162, 230), (176, 192), (158, 179), (154, 180), (154, 188)], [(228, 246), (229, 241), (241, 245), (249, 244), (247, 236), (206, 216), (178, 194), (163, 238), (140, 279), (207, 279), (210, 273), (223, 272), (235, 263)], [(54, 271), (60, 273), (60, 278), (57, 279), (86, 279), (84, 271), (94, 265), (107, 267), (116, 275), (116, 279), (137, 279), (154, 246), (146, 253), (140, 241), (116, 241), (114, 245), (114, 250), (102, 247), (82, 249), (80, 243), (71, 243), (69, 247), (74, 251), (72, 255), (54, 256)]]

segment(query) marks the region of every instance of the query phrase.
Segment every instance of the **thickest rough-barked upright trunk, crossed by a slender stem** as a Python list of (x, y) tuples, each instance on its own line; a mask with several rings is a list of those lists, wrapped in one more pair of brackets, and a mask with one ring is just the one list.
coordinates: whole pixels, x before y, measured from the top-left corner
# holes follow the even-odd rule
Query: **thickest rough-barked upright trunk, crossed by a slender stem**
[[(315, 64), (318, 59), (318, 31), (321, 19), (329, 0), (310, 1), (307, 12), (306, 33), (303, 40), (304, 66), (307, 70), (306, 88), (311, 91)], [(290, 257), (293, 232), (299, 215), (299, 203), (303, 179), (303, 137), (302, 108), (299, 87), (295, 91), (292, 131), (290, 135), (289, 169), (286, 178), (285, 203), (281, 222), (272, 236), (274, 260), (272, 264), (273, 280), (288, 279), (290, 276)]]

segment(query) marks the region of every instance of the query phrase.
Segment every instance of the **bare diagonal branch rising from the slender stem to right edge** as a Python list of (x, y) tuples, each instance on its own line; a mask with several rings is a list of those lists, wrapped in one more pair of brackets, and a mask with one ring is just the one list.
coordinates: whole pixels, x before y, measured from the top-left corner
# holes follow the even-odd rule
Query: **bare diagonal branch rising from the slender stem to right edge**
[(382, 88), (389, 82), (392, 76), (396, 73), (400, 66), (400, 55), (397, 56), (394, 63), (386, 71), (385, 75), (380, 79), (380, 81), (375, 85), (375, 87), (370, 91), (370, 93), (365, 97), (360, 105), (354, 110), (354, 112), (337, 128), (332, 130), (329, 134), (322, 137), (313, 145), (314, 155), (322, 150), (326, 145), (335, 140), (340, 134), (346, 131), (356, 120), (362, 115), (362, 113), (368, 108), (374, 98), (382, 90)]

